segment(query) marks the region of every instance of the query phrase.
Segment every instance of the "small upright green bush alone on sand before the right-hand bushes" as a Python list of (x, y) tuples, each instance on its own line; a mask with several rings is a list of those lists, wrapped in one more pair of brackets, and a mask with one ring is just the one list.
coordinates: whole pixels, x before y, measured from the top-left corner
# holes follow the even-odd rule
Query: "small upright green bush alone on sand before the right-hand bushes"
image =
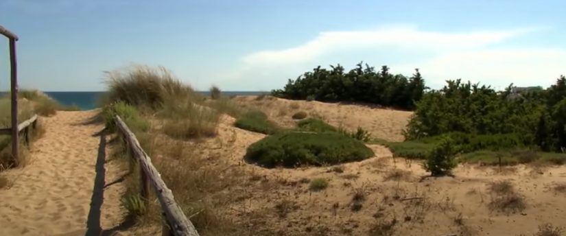
[(458, 165), (454, 160), (455, 148), (449, 137), (443, 137), (440, 142), (428, 153), (423, 168), (430, 172), (431, 176), (445, 176), (451, 174), (451, 170)]

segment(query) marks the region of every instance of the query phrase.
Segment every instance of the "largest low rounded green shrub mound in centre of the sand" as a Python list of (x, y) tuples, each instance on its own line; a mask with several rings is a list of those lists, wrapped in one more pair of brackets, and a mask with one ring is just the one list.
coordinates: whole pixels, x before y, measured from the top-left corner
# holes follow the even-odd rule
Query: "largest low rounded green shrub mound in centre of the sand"
[(272, 168), (335, 165), (371, 156), (373, 150), (364, 143), (335, 132), (279, 132), (250, 145), (245, 159)]

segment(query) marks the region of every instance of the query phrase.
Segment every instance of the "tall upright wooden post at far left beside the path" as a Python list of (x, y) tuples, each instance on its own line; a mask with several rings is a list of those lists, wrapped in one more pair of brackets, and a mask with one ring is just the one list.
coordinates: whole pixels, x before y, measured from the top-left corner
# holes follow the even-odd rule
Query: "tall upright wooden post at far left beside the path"
[(10, 80), (12, 91), (12, 156), (19, 161), (18, 130), (18, 65), (16, 62), (16, 39), (10, 38)]

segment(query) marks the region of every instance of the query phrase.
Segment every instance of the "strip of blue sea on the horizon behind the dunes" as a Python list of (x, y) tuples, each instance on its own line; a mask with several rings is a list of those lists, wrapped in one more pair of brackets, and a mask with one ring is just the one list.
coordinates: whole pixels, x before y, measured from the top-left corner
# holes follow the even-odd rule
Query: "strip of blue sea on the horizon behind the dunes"
[[(209, 95), (210, 91), (197, 91), (202, 95)], [(0, 96), (5, 95), (8, 92), (0, 92)], [(43, 91), (43, 93), (49, 95), (49, 97), (55, 99), (57, 102), (63, 106), (78, 106), (80, 110), (92, 110), (98, 107), (98, 99), (101, 95), (104, 95), (104, 91), (101, 92), (49, 92)], [(250, 96), (250, 95), (260, 95), (263, 93), (268, 93), (266, 91), (222, 91), (222, 95), (226, 96)]]

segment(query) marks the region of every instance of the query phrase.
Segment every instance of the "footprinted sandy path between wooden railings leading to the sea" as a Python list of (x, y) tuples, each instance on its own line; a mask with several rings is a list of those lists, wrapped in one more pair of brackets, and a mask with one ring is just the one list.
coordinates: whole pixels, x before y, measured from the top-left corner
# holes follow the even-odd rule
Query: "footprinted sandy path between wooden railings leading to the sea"
[[(30, 164), (3, 173), (0, 235), (113, 235), (121, 221), (121, 172), (106, 162), (101, 125), (85, 125), (95, 111), (41, 117), (45, 136), (33, 144)], [(95, 191), (93, 191), (95, 189)]]

